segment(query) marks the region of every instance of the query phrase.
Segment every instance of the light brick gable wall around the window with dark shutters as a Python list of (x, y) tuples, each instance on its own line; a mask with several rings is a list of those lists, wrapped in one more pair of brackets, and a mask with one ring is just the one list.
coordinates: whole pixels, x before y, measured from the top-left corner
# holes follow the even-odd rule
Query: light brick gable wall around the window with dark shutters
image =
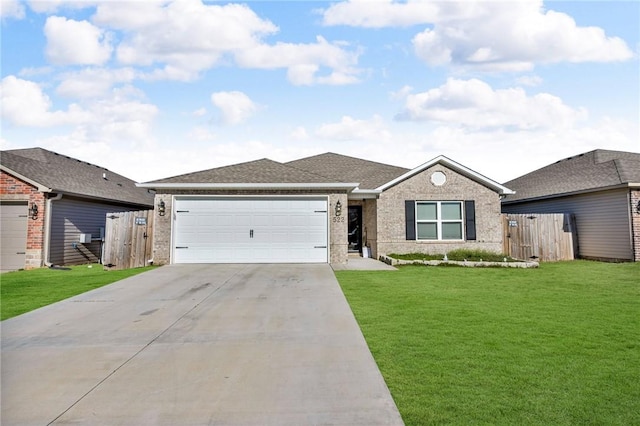
[[(441, 171), (446, 176), (442, 186), (431, 183), (431, 174)], [(405, 230), (405, 200), (416, 201), (475, 201), (476, 240), (474, 241), (408, 241)], [(374, 255), (389, 253), (444, 254), (458, 248), (502, 251), (502, 222), (499, 195), (436, 164), (423, 172), (387, 189), (377, 201), (378, 239)]]

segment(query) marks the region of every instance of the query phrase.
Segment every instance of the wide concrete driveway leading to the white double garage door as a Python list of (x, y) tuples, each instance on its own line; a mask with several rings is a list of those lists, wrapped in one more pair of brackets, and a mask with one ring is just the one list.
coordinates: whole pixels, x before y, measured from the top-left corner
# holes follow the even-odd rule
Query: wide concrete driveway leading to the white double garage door
[(1, 327), (3, 425), (402, 424), (329, 265), (164, 266)]

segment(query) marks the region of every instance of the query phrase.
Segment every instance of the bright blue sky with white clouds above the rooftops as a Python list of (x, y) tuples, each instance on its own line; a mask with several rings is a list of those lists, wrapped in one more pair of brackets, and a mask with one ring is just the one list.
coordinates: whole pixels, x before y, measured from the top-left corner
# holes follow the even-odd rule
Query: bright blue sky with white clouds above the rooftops
[(2, 149), (137, 181), (327, 151), (499, 182), (640, 152), (637, 1), (16, 1)]

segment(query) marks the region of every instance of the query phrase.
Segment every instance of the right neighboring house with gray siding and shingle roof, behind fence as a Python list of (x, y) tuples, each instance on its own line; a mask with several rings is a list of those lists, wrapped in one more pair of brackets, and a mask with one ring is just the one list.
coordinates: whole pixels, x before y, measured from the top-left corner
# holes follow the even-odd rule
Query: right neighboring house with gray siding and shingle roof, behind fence
[(570, 213), (578, 256), (640, 261), (640, 153), (598, 149), (505, 183), (503, 213)]

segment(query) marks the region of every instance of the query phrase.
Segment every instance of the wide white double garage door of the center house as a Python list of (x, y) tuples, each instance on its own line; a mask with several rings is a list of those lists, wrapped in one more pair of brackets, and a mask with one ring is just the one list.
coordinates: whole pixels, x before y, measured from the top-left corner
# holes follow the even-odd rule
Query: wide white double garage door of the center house
[(326, 263), (326, 198), (178, 198), (174, 263)]

